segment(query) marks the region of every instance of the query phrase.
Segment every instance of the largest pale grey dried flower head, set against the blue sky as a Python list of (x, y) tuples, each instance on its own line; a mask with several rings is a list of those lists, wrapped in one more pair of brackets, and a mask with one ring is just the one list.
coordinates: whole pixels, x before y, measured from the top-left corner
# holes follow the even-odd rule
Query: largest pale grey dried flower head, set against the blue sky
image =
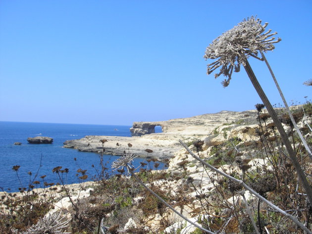
[[(261, 25), (261, 20), (254, 16), (244, 19), (234, 28), (226, 31), (217, 37), (206, 48), (204, 58), (216, 59), (207, 65), (207, 74), (211, 74), (215, 69), (221, 67), (220, 72), (214, 74), (217, 78), (221, 74), (228, 77), (222, 81), (223, 87), (227, 87), (234, 72), (240, 71), (240, 65), (245, 65), (245, 61), (249, 56), (260, 59), (259, 51), (268, 51), (274, 49), (274, 43), (281, 41), (280, 38), (275, 40), (269, 29), (264, 33), (268, 23)], [(274, 41), (275, 40), (275, 41)], [(261, 60), (261, 59), (260, 59)]]

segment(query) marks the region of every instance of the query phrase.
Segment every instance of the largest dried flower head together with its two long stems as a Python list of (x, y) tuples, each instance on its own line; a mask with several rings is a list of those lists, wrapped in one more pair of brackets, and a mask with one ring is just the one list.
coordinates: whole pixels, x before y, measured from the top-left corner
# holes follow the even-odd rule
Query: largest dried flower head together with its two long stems
[[(277, 84), (277, 81), (275, 79), (275, 76), (263, 54), (263, 52), (273, 50), (275, 47), (273, 44), (278, 43), (281, 41), (280, 38), (275, 40), (273, 35), (276, 33), (271, 33), (271, 30), (265, 31), (265, 28), (267, 27), (268, 23), (264, 23), (264, 25), (261, 25), (261, 20), (256, 19), (254, 16), (251, 18), (248, 18), (247, 20), (243, 20), (241, 23), (239, 23), (234, 28), (228, 30), (227, 32), (223, 33), (221, 36), (217, 37), (213, 42), (207, 47), (205, 52), (205, 59), (216, 59), (212, 63), (208, 64), (207, 68), (207, 74), (211, 74), (214, 70), (217, 68), (220, 68), (220, 71), (214, 75), (215, 78), (219, 77), (221, 74), (223, 74), (227, 79), (225, 79), (222, 82), (223, 87), (227, 87), (230, 83), (232, 72), (239, 72), (240, 66), (243, 65), (245, 68), (245, 71), (250, 78), (250, 81), (252, 82), (253, 86), (255, 87), (257, 93), (259, 94), (263, 104), (267, 108), (267, 111), (269, 112), (276, 129), (278, 130), (281, 139), (283, 143), (285, 144), (285, 147), (287, 149), (287, 152), (289, 154), (289, 158), (292, 160), (293, 165), (298, 172), (298, 177), (300, 178), (300, 181), (302, 182), (302, 185), (304, 189), (307, 192), (310, 204), (312, 204), (312, 187), (309, 185), (306, 175), (301, 168), (296, 154), (294, 152), (294, 149), (292, 148), (292, 145), (288, 139), (287, 134), (285, 133), (285, 130), (277, 117), (276, 112), (274, 111), (271, 103), (269, 102), (266, 94), (263, 92), (256, 75), (254, 74), (254, 71), (252, 70), (247, 58), (250, 56), (255, 57), (259, 60), (264, 60), (268, 69), (270, 70), (270, 73), (273, 77), (273, 80), (276, 84), (277, 89), (279, 90), (279, 93), (284, 101), (286, 103), (285, 98), (279, 89), (279, 86)], [(275, 41), (274, 41), (275, 40)], [(261, 58), (258, 56), (258, 53), (260, 52)], [(289, 108), (287, 106), (287, 103), (285, 104), (287, 111), (289, 111)], [(290, 113), (290, 111), (289, 111)], [(289, 114), (291, 115), (291, 114)], [(294, 126), (297, 126), (295, 123), (295, 120), (292, 122), (294, 123)], [(297, 127), (298, 128), (298, 127)], [(296, 130), (297, 130), (296, 128)], [(301, 140), (303, 141), (308, 154), (310, 158), (312, 158), (311, 151), (306, 144), (306, 141), (303, 139), (299, 129), (297, 130)]]

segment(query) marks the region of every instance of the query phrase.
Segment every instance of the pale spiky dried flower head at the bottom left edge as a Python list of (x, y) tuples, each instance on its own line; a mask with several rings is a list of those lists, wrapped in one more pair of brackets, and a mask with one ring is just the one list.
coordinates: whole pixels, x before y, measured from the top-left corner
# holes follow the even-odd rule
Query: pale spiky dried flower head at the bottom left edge
[(23, 234), (69, 234), (62, 230), (67, 228), (69, 220), (65, 220), (65, 216), (61, 216), (61, 212), (54, 213), (48, 217), (39, 220)]

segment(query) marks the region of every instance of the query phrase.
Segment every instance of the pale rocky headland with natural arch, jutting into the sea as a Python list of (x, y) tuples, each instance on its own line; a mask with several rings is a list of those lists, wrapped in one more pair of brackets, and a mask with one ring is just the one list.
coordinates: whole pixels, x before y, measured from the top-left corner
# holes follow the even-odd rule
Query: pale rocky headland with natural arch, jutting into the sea
[[(79, 140), (67, 140), (65, 148), (79, 151), (97, 152), (104, 154), (123, 155), (124, 152), (135, 153), (139, 156), (149, 156), (158, 160), (173, 157), (181, 150), (178, 140), (191, 142), (205, 138), (207, 144), (221, 142), (220, 131), (229, 131), (229, 126), (256, 124), (256, 111), (221, 111), (214, 114), (198, 115), (190, 118), (171, 119), (159, 122), (134, 122), (130, 129), (132, 137), (86, 136)], [(155, 133), (155, 127), (160, 126), (162, 133)], [(225, 130), (224, 130), (225, 129)], [(232, 129), (233, 131), (233, 129)], [(107, 140), (104, 144), (101, 140)], [(131, 145), (129, 147), (129, 145)], [(152, 153), (145, 150), (151, 149)]]

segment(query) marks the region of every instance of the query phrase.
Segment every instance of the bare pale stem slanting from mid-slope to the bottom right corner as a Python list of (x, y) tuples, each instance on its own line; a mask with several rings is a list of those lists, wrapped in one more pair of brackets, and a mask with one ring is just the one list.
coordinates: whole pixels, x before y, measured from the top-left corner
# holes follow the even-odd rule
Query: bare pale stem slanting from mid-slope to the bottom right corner
[(274, 205), (272, 202), (268, 201), (267, 199), (265, 199), (263, 196), (261, 196), (258, 192), (256, 192), (254, 189), (252, 189), (251, 187), (249, 187), (248, 185), (246, 185), (243, 181), (238, 180), (226, 173), (224, 173), (223, 171), (220, 171), (218, 169), (216, 169), (215, 167), (211, 166), (210, 164), (208, 164), (206, 161), (204, 161), (203, 159), (201, 159), (200, 157), (198, 157), (196, 154), (194, 154), (189, 147), (186, 146), (186, 144), (182, 141), (179, 140), (179, 142), (183, 145), (183, 147), (192, 155), (193, 158), (195, 158), (197, 161), (201, 162), (203, 165), (207, 166), (208, 168), (210, 168), (212, 171), (228, 178), (229, 180), (240, 184), (242, 187), (245, 187), (248, 191), (250, 191), (252, 194), (254, 194), (256, 197), (258, 197), (260, 200), (262, 200), (263, 202), (265, 202), (267, 205), (269, 205), (270, 207), (272, 207), (273, 209), (275, 209), (277, 212), (281, 213), (282, 215), (284, 215), (287, 219), (292, 220), (295, 224), (297, 224), (302, 230), (304, 230), (305, 232), (307, 232), (307, 234), (312, 234), (312, 232), (306, 227), (304, 226), (301, 222), (299, 222), (298, 219), (296, 219), (294, 216), (292, 216), (291, 214), (288, 214), (287, 212), (285, 212), (284, 210), (280, 209), (278, 206)]

